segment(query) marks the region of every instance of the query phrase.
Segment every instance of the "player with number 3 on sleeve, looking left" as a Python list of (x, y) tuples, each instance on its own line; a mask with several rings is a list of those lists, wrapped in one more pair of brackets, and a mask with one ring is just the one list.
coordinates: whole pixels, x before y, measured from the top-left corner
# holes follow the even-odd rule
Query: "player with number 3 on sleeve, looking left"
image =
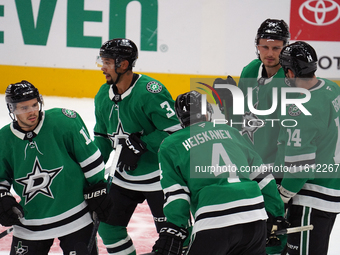
[(110, 191), (114, 203), (110, 224), (99, 226), (109, 254), (136, 254), (126, 227), (145, 199), (157, 231), (164, 223), (157, 153), (162, 140), (181, 128), (164, 85), (133, 72), (137, 57), (137, 47), (129, 39), (109, 40), (100, 49), (107, 83), (95, 97), (95, 143), (105, 162), (118, 144), (123, 148)]

